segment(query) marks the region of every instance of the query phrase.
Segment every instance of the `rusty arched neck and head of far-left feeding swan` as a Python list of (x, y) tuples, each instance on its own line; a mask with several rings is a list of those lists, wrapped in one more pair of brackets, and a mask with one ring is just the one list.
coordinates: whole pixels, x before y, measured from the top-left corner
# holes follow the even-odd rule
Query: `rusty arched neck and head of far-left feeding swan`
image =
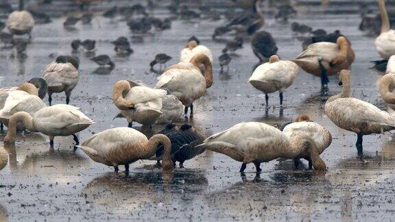
[(16, 125), (18, 123), (22, 123), (27, 130), (30, 132), (36, 132), (36, 127), (33, 124), (33, 118), (27, 112), (16, 112), (13, 114), (10, 119), (10, 123), (8, 123), (8, 133), (7, 136), (4, 138), (4, 143), (10, 144), (15, 143), (16, 137)]

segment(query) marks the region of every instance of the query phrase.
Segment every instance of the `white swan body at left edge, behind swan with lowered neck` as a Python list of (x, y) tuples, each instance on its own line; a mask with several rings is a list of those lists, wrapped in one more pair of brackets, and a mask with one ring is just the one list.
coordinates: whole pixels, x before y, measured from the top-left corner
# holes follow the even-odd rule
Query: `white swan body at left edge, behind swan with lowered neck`
[[(0, 121), (8, 125), (8, 121), (13, 114), (25, 111), (33, 116), (38, 110), (46, 107), (43, 100), (36, 95), (30, 95), (22, 90), (14, 90), (10, 92), (5, 100), (3, 108), (0, 110)], [(23, 125), (17, 127), (18, 130), (24, 130)]]

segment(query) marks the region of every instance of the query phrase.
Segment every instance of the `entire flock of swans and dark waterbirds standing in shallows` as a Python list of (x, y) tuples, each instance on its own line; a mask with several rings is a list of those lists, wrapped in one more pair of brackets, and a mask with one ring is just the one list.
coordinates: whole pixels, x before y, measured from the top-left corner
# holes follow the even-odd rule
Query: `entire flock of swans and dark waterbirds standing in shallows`
[[(374, 44), (383, 60), (376, 61), (379, 64), (376, 69), (386, 67), (385, 75), (379, 83), (379, 91), (390, 108), (395, 108), (395, 31), (390, 27), (385, 1), (377, 1), (381, 12), (381, 34)], [(339, 73), (342, 91), (326, 101), (324, 110), (335, 125), (357, 134), (358, 155), (363, 155), (363, 135), (395, 130), (393, 110), (386, 112), (371, 103), (350, 97), (349, 69), (355, 60), (355, 53), (346, 36), (339, 31), (327, 34), (324, 29), (313, 30), (307, 25), (292, 23), (291, 29), (294, 32), (313, 36), (303, 42), (304, 50), (294, 60), (280, 60), (276, 55), (278, 48), (274, 38), (269, 32), (260, 31), (265, 23), (260, 3), (261, 0), (254, 0), (250, 13), (233, 15), (228, 23), (215, 29), (213, 39), (235, 34), (235, 38), (226, 42), (223, 54), (219, 56), (222, 68), (231, 61), (232, 57), (228, 53), (243, 47), (244, 40), (250, 39), (252, 51), (261, 64), (256, 67), (248, 82), (265, 93), (266, 105), (269, 103), (268, 95), (277, 91), (280, 95), (280, 106), (283, 105), (283, 93), (298, 77), (300, 68), (321, 77), (324, 94), (328, 92), (328, 75)], [(173, 1), (169, 10), (180, 18), (200, 16), (187, 6), (179, 4), (179, 1)], [(210, 10), (206, 8), (200, 10), (207, 16), (217, 14), (209, 13)], [(114, 18), (117, 14), (123, 16), (134, 34), (146, 34), (152, 27), (156, 30), (171, 28), (172, 18), (161, 20), (151, 17), (140, 4), (127, 8), (110, 8), (103, 16)], [(136, 18), (136, 14), (140, 17)], [(279, 8), (276, 18), (287, 21), (293, 14), (296, 14), (293, 8), (284, 6)], [(91, 20), (92, 14), (80, 18), (69, 17), (64, 25), (71, 26), (78, 21), (86, 23)], [(28, 34), (31, 38), (34, 17), (23, 10), (23, 0), (20, 0), (19, 10), (10, 14), (5, 25), (11, 35)], [(120, 37), (112, 44), (115, 45), (115, 51), (133, 52), (128, 38)], [(95, 49), (95, 40), (71, 42), (73, 51), (79, 50), (80, 46), (91, 51)], [(159, 64), (162, 70), (162, 65), (171, 59), (171, 56), (160, 53), (149, 65), (153, 69)], [(106, 55), (96, 56), (91, 60), (101, 66), (115, 66)], [(163, 171), (170, 171), (176, 162), (180, 162), (180, 167), (183, 167), (184, 161), (194, 158), (206, 149), (242, 162), (241, 173), (246, 169), (246, 164), (253, 163), (259, 172), (261, 162), (277, 158), (294, 160), (296, 168), (299, 160), (305, 159), (310, 168), (326, 170), (320, 154), (331, 145), (332, 136), (325, 127), (314, 123), (309, 116), (298, 116), (293, 123), (278, 127), (259, 122), (239, 123), (208, 138), (196, 132), (192, 125), (174, 124), (182, 116), (187, 119), (188, 112), (189, 118), (193, 118), (194, 101), (208, 93), (208, 88), (214, 84), (213, 62), (211, 50), (192, 36), (186, 47), (180, 51), (180, 62), (167, 66), (158, 76), (154, 88), (139, 81), (118, 81), (113, 88), (112, 101), (119, 109), (116, 117), (125, 118), (128, 127), (105, 130), (80, 143), (75, 134), (93, 124), (80, 108), (69, 105), (71, 93), (80, 78), (80, 60), (75, 56), (58, 56), (47, 65), (40, 77), (20, 86), (0, 89), (1, 130), (3, 125), (8, 127), (3, 143), (15, 143), (17, 130), (45, 134), (49, 136), (51, 146), (55, 136), (73, 136), (75, 149), (82, 149), (92, 160), (114, 167), (115, 171), (119, 171), (119, 166), (124, 165), (126, 173), (129, 172), (129, 164), (137, 160), (156, 160)], [(66, 94), (66, 104), (51, 106), (51, 95), (62, 92)], [(49, 106), (43, 102), (45, 95), (49, 97)], [(158, 123), (167, 125), (158, 134), (147, 138), (132, 128), (134, 122), (148, 127)], [(7, 159), (5, 151), (0, 149), (0, 169), (5, 166)]]

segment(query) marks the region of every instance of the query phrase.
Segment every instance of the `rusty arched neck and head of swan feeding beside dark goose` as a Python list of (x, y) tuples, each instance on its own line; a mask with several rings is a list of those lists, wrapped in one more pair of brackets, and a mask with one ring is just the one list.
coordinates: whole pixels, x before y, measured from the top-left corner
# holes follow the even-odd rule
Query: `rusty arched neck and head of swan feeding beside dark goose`
[(145, 145), (145, 153), (149, 157), (154, 156), (159, 144), (163, 144), (165, 151), (162, 156), (162, 169), (163, 171), (173, 170), (173, 161), (171, 160), (171, 142), (164, 134), (156, 134), (149, 138), (147, 145)]

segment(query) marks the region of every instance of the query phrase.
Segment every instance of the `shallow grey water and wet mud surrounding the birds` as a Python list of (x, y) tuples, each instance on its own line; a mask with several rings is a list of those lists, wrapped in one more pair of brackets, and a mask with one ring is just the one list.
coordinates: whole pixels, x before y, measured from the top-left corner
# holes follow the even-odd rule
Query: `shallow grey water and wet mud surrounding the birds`
[[(167, 16), (167, 12), (157, 12)], [(108, 72), (97, 69), (83, 52), (80, 57), (81, 77), (73, 91), (71, 105), (81, 107), (95, 125), (81, 132), (80, 140), (111, 127), (126, 126), (125, 119), (115, 119), (112, 86), (119, 79), (141, 80), (153, 86), (156, 74), (149, 62), (156, 53), (173, 56), (191, 35), (213, 51), (215, 80), (208, 93), (195, 102), (191, 123), (204, 136), (225, 130), (241, 121), (269, 124), (291, 121), (308, 114), (333, 134), (333, 143), (322, 154), (328, 171), (315, 173), (307, 166), (295, 170), (291, 161), (262, 164), (256, 175), (248, 165), (241, 177), (241, 163), (222, 154), (206, 151), (176, 168), (172, 175), (162, 175), (155, 162), (139, 161), (131, 165), (131, 173), (113, 173), (113, 169), (89, 159), (81, 150), (73, 152), (72, 137), (56, 138), (55, 148), (41, 134), (19, 136), (15, 146), (6, 146), (10, 162), (0, 172), (0, 221), (333, 221), (392, 220), (395, 214), (394, 167), (395, 137), (364, 137), (363, 159), (357, 158), (356, 136), (336, 127), (324, 114), (325, 98), (320, 96), (320, 79), (303, 71), (285, 93), (285, 106), (280, 108), (277, 94), (270, 95), (270, 108), (265, 96), (247, 80), (257, 59), (246, 42), (232, 56), (230, 71), (219, 72), (216, 58), (224, 44), (211, 40), (213, 29), (224, 21), (174, 21), (172, 29), (144, 36), (143, 43), (132, 43), (134, 54), (117, 56), (110, 44), (119, 36), (130, 36), (125, 23), (97, 16), (93, 25), (77, 25), (73, 30), (62, 27), (64, 18), (37, 25), (33, 44), (28, 45), (27, 58), (12, 58), (12, 50), (0, 51), (2, 86), (15, 86), (40, 75), (55, 56), (71, 53), (69, 43), (80, 38), (97, 40), (96, 55), (108, 53), (116, 64)], [(378, 58), (374, 38), (358, 30), (356, 14), (303, 15), (296, 21), (329, 32), (342, 31), (352, 42), (357, 58), (352, 65), (352, 95), (385, 108), (376, 88), (380, 75), (368, 70), (369, 61)], [(300, 53), (301, 42), (292, 36), (289, 24), (267, 18), (265, 30), (272, 33), (282, 59)], [(330, 77), (330, 93), (338, 93), (337, 76)], [(47, 99), (47, 98), (46, 98)], [(64, 95), (53, 96), (64, 103)], [(47, 101), (46, 101), (47, 102)], [(184, 123), (184, 122), (180, 122)], [(163, 128), (137, 130), (152, 135)], [(2, 136), (4, 136), (3, 134)], [(304, 162), (307, 165), (307, 162)]]

